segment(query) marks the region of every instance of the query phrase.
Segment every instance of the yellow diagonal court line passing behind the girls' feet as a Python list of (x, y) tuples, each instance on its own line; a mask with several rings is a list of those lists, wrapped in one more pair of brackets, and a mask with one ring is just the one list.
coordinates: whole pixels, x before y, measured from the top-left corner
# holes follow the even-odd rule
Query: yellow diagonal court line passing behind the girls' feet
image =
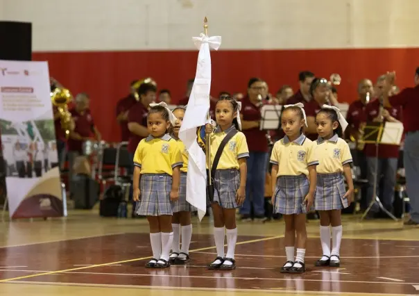
[[(255, 240), (245, 240), (243, 242), (237, 242), (236, 245), (243, 245), (243, 244), (249, 244), (252, 242), (262, 242), (265, 240), (275, 240), (277, 238), (282, 238), (283, 236), (270, 236), (267, 238), (257, 238)], [(198, 251), (205, 251), (207, 249), (215, 249), (215, 246), (211, 246), (211, 247), (203, 247), (203, 248), (199, 248), (199, 249), (192, 249), (189, 252), (198, 252)], [(101, 264), (94, 264), (94, 265), (89, 265), (89, 266), (83, 266), (80, 268), (69, 268), (66, 270), (57, 270), (57, 271), (51, 271), (51, 272), (42, 272), (40, 274), (31, 274), (31, 275), (26, 275), (23, 277), (14, 277), (14, 278), (10, 278), (10, 279), (1, 279), (0, 283), (5, 283), (7, 281), (16, 281), (18, 279), (28, 279), (31, 277), (42, 277), (44, 275), (49, 275), (49, 274), (56, 274), (56, 273), (60, 273), (60, 272), (71, 272), (74, 270), (85, 270), (87, 268), (99, 268), (101, 266), (106, 266), (106, 265), (115, 265), (115, 264), (121, 264), (121, 263), (128, 263), (128, 262), (134, 262), (134, 261), (142, 261), (142, 260), (146, 260), (146, 259), (151, 259), (153, 258), (153, 256), (146, 256), (146, 257), (142, 257), (142, 258), (134, 258), (134, 259), (128, 259), (128, 260), (122, 260), (122, 261), (116, 261), (116, 262), (108, 262), (108, 263), (101, 263)]]

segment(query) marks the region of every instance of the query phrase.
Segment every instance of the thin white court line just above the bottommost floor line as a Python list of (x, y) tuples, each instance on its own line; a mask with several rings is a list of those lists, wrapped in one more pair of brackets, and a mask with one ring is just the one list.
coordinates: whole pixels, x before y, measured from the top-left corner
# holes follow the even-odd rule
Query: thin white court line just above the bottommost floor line
[[(16, 271), (16, 270), (12, 270)], [(110, 275), (110, 276), (125, 276), (125, 277), (173, 277), (173, 278), (193, 278), (193, 279), (237, 279), (237, 280), (255, 280), (255, 281), (328, 281), (331, 283), (377, 283), (377, 284), (400, 284), (400, 285), (419, 285), (419, 283), (406, 283), (406, 282), (396, 282), (396, 281), (348, 281), (348, 280), (340, 280), (340, 279), (302, 279), (302, 278), (287, 278), (284, 277), (282, 279), (279, 278), (264, 278), (264, 277), (224, 277), (225, 272), (220, 272), (219, 274), (212, 274), (210, 276), (203, 276), (203, 275), (180, 275), (180, 274), (136, 274), (136, 273), (117, 273), (117, 272), (74, 272), (74, 271), (60, 271), (60, 272), (44, 272), (44, 273), (53, 273), (53, 274), (90, 274), (90, 275)], [(39, 277), (42, 274), (32, 274), (28, 277)], [(319, 274), (320, 275), (320, 274)], [(15, 280), (10, 280), (15, 281)], [(15, 283), (21, 283), (23, 281), (15, 281)], [(28, 281), (31, 283), (31, 281)]]

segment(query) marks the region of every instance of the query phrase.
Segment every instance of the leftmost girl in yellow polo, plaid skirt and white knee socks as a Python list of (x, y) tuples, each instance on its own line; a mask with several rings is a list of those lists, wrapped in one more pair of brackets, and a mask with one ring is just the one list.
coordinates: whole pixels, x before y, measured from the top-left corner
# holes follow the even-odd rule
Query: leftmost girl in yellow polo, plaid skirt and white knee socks
[(182, 154), (178, 142), (168, 131), (176, 117), (165, 103), (151, 104), (147, 115), (147, 138), (139, 142), (134, 154), (132, 198), (137, 215), (147, 217), (153, 258), (146, 268), (168, 268), (173, 242), (171, 215), (178, 200)]

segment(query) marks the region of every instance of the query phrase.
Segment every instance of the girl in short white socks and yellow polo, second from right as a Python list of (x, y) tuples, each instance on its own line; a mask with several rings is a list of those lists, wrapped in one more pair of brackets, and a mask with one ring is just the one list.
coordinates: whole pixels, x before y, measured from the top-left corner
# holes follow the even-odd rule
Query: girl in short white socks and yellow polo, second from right
[[(305, 272), (305, 247), (307, 232), (306, 213), (311, 211), (316, 191), (316, 165), (314, 143), (302, 133), (306, 125), (301, 103), (284, 106), (281, 126), (285, 136), (273, 146), (272, 204), (275, 213), (285, 220), (285, 253), (287, 262), (282, 273)], [(297, 256), (294, 260), (294, 247)]]

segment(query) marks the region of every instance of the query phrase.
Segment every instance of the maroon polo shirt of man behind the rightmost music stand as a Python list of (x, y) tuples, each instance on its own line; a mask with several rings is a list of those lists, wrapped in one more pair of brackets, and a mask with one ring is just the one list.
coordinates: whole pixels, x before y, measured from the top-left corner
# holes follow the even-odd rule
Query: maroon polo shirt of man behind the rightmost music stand
[[(390, 113), (391, 117), (396, 120), (402, 121), (402, 108), (391, 107), (385, 108)], [(372, 122), (377, 117), (379, 112), (379, 100), (375, 100), (367, 104), (366, 106), (366, 120)], [(386, 122), (386, 120), (384, 120)], [(379, 158), (398, 158), (400, 147), (397, 145), (378, 145), (378, 157)], [(375, 157), (376, 147), (375, 144), (366, 144), (364, 149), (367, 157)]]

